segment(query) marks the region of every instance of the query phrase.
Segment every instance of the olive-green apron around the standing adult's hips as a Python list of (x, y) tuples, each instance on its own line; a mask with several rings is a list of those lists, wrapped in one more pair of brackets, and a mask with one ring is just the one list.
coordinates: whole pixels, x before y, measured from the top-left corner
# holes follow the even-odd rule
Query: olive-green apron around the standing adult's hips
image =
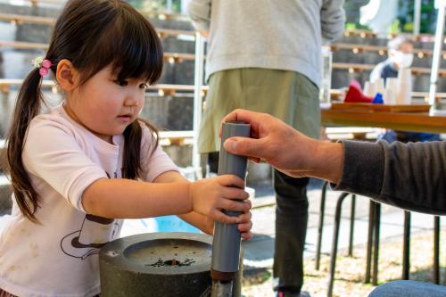
[(211, 75), (198, 136), (200, 153), (219, 151), (219, 125), (237, 108), (269, 113), (303, 134), (317, 138), (318, 87), (294, 71), (246, 68)]

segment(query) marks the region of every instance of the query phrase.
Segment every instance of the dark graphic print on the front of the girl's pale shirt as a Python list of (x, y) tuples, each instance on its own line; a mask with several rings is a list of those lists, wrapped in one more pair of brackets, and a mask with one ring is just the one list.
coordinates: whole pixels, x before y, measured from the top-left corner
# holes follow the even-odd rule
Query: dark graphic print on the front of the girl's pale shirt
[[(110, 178), (110, 175), (107, 173)], [(113, 177), (117, 177), (116, 172)], [(99, 253), (103, 245), (115, 238), (120, 224), (115, 219), (86, 214), (77, 231), (65, 235), (61, 240), (62, 252), (80, 260)]]

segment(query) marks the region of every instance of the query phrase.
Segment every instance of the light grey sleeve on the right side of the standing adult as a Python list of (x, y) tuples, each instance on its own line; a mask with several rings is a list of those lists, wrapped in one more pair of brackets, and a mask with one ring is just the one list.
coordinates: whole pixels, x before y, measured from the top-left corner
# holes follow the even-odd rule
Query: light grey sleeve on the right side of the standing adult
[(343, 34), (345, 12), (343, 0), (323, 0), (320, 9), (320, 26), (322, 37), (333, 41)]

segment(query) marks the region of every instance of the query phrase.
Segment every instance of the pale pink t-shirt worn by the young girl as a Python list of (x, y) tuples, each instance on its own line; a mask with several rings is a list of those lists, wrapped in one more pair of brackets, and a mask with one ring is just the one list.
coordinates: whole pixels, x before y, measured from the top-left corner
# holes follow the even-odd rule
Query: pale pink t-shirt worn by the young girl
[[(157, 147), (143, 124), (143, 177), (178, 170)], [(117, 238), (122, 219), (89, 215), (81, 197), (100, 178), (120, 178), (124, 136), (109, 144), (79, 125), (63, 110), (31, 121), (22, 160), (39, 194), (35, 215), (26, 219), (15, 201), (12, 219), (0, 234), (0, 287), (18, 296), (93, 296), (100, 292), (98, 255)]]

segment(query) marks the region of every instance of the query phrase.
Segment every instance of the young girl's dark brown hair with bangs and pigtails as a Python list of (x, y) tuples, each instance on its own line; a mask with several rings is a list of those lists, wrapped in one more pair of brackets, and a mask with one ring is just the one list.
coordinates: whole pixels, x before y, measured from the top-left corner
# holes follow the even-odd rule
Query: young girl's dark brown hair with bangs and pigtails
[[(69, 1), (55, 23), (45, 59), (52, 62), (54, 74), (57, 63), (68, 59), (81, 75), (79, 87), (108, 65), (117, 80), (143, 78), (150, 85), (160, 78), (162, 71), (162, 48), (156, 31), (144, 16), (120, 0)], [(34, 214), (38, 194), (31, 186), (21, 154), (29, 123), (44, 103), (41, 80), (35, 69), (23, 81), (7, 139), (12, 190), (23, 215), (34, 222), (37, 222)], [(156, 128), (145, 120), (139, 121), (151, 129), (154, 150), (158, 145)], [(136, 179), (141, 175), (142, 128), (138, 120), (125, 129), (124, 137), (122, 174)]]

